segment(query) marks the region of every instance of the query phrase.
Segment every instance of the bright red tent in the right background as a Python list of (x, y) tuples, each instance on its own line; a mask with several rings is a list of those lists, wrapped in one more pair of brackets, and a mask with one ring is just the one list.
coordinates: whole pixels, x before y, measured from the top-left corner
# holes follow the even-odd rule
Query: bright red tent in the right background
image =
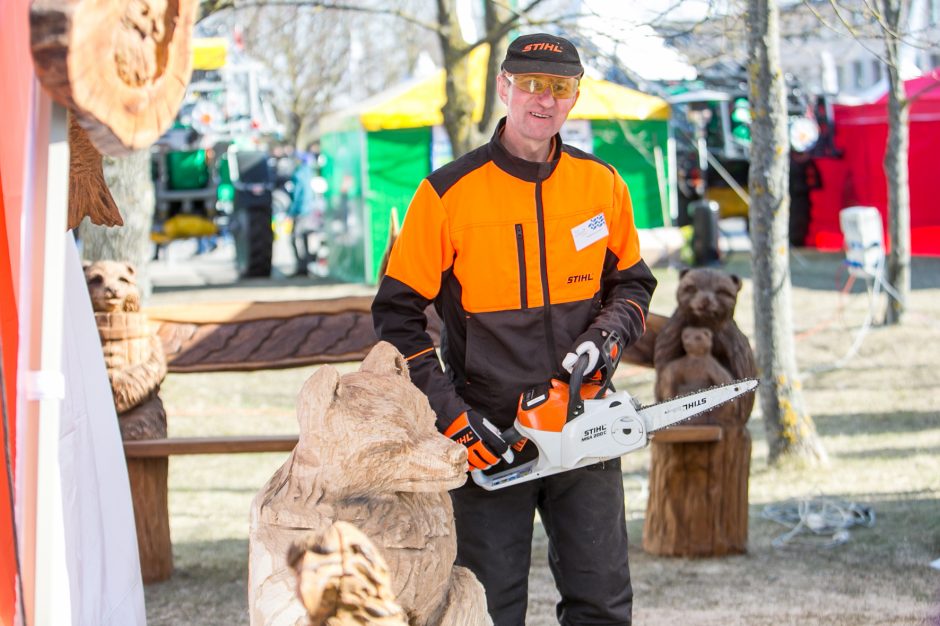
[[(910, 108), (911, 251), (940, 255), (940, 205), (935, 171), (940, 147), (940, 69), (904, 83)], [(806, 244), (824, 250), (842, 248), (839, 211), (873, 206), (882, 215), (887, 239), (888, 194), (884, 156), (888, 140), (887, 93), (876, 102), (834, 107), (835, 145), (841, 158), (820, 158), (822, 189), (812, 193)]]

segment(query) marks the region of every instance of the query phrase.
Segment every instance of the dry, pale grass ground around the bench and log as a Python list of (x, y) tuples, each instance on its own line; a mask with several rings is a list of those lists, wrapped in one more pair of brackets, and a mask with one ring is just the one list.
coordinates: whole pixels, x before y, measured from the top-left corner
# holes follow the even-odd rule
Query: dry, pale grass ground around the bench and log
[[(868, 310), (863, 288), (840, 291), (846, 278), (840, 258), (806, 253), (793, 262), (797, 356), (804, 370), (839, 360)], [(728, 269), (745, 277), (736, 319), (752, 335), (747, 258), (732, 258)], [(918, 624), (937, 615), (940, 571), (929, 563), (940, 558), (940, 259), (915, 259), (913, 273), (903, 327), (875, 327), (843, 367), (804, 376), (804, 397), (830, 455), (828, 467), (768, 468), (763, 423), (752, 416), (746, 555), (688, 560), (643, 553), (649, 456), (625, 457), (635, 623)], [(653, 310), (668, 314), (676, 274), (657, 274), (661, 286)], [(292, 432), (294, 395), (311, 371), (171, 375), (162, 393), (171, 434)], [(618, 378), (620, 388), (651, 401), (651, 372), (624, 366)], [(169, 581), (147, 588), (151, 626), (247, 623), (248, 506), (282, 460), (280, 454), (172, 459), (176, 570)], [(869, 505), (876, 524), (853, 529), (851, 539), (835, 548), (773, 548), (771, 541), (786, 528), (762, 519), (764, 506), (814, 496)], [(557, 596), (538, 530), (530, 625), (556, 623)]]

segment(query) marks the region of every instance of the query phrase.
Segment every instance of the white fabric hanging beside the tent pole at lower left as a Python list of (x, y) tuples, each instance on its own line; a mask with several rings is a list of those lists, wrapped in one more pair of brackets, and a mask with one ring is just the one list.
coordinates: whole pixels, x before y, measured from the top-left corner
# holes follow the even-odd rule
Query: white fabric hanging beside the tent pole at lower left
[(73, 626), (145, 626), (130, 483), (78, 250), (66, 233), (59, 461)]

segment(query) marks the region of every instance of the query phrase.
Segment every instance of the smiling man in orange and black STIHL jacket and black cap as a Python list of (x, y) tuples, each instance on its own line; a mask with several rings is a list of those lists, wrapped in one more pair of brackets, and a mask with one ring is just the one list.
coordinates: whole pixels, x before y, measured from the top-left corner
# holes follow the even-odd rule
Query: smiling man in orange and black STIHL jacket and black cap
[[(611, 333), (622, 349), (645, 329), (656, 280), (626, 185), (558, 134), (583, 71), (560, 37), (510, 44), (497, 85), (506, 117), (488, 144), (422, 181), (372, 306), (376, 333), (406, 356), (472, 469), (507, 467), (500, 432), (526, 389), (567, 376), (582, 353), (590, 374)], [(431, 302), (446, 372), (426, 332)], [(560, 622), (630, 623), (619, 459), (496, 491), (468, 480), (452, 496), (457, 562), (483, 583), (497, 626), (525, 623), (536, 511)]]

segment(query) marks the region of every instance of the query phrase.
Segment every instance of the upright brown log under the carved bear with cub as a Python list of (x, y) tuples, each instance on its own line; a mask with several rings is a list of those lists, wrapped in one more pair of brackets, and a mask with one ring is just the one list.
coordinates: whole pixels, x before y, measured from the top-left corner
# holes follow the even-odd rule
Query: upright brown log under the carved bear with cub
[(745, 553), (750, 462), (746, 428), (726, 428), (714, 442), (654, 437), (643, 549), (680, 557)]

